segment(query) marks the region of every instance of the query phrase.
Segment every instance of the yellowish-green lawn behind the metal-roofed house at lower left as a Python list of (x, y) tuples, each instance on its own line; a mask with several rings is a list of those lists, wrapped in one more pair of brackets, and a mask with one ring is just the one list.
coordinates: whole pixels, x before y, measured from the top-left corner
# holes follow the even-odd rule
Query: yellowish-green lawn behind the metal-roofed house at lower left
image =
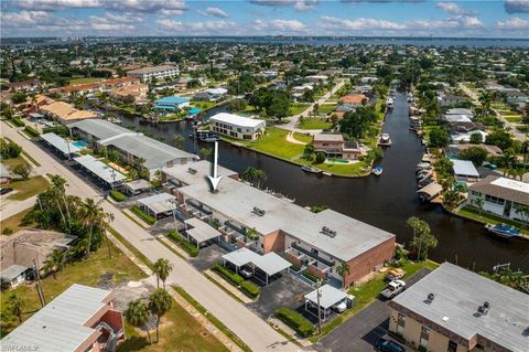
[[(54, 279), (52, 275), (44, 278), (42, 284), (46, 301), (51, 301), (73, 284), (97, 287), (101, 280), (101, 276), (106, 274), (112, 275), (110, 281), (114, 284), (138, 280), (145, 277), (143, 271), (112, 244), (110, 244), (110, 250), (112, 258), (109, 258), (108, 248), (104, 243), (88, 259), (67, 264), (64, 269), (57, 274), (56, 279)], [(24, 300), (23, 320), (30, 318), (41, 308), (36, 290), (33, 286), (19, 286), (10, 290), (10, 292), (11, 291), (20, 295)], [(8, 295), (1, 295), (2, 307), (7, 299)], [(2, 334), (8, 332), (9, 331), (2, 331)]]

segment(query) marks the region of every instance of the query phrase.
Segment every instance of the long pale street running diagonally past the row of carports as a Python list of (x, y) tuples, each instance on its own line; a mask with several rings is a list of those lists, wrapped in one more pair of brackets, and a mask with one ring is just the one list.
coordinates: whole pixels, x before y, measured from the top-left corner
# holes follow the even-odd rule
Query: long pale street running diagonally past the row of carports
[[(8, 136), (20, 145), (35, 160), (39, 160), (46, 172), (58, 174), (68, 183), (67, 192), (82, 198), (101, 199), (96, 190), (84, 180), (74, 174), (69, 169), (41, 150), (33, 142), (20, 136), (3, 121), (2, 136)], [(112, 227), (140, 250), (149, 260), (166, 258), (173, 265), (168, 284), (177, 285), (187, 291), (196, 301), (204, 306), (210, 313), (219, 319), (228, 329), (237, 334), (253, 351), (298, 351), (299, 348), (289, 342), (284, 337), (274, 331), (269, 324), (253, 312), (229, 297), (215, 284), (210, 282), (193, 266), (172, 253), (159, 243), (144, 228), (130, 221), (120, 210), (109, 202), (101, 203), (102, 209), (114, 214)]]

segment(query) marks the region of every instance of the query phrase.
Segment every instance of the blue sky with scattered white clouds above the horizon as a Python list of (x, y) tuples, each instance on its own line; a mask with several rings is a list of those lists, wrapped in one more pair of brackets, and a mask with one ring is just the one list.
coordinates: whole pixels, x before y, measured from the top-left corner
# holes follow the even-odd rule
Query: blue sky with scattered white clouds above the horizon
[(529, 0), (0, 0), (0, 34), (529, 38)]

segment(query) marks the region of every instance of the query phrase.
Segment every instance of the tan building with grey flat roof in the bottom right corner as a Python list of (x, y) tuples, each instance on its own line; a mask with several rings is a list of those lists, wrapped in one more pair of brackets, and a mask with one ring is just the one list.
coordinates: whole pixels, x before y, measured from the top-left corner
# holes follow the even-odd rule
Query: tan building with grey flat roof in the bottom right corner
[(444, 263), (389, 301), (389, 331), (419, 351), (527, 351), (529, 296)]

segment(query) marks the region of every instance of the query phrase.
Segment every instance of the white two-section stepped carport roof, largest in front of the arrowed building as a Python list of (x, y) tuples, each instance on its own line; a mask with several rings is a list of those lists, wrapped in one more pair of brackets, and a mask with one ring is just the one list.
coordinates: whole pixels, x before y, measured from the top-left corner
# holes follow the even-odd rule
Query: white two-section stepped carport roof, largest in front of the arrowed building
[(248, 248), (239, 248), (235, 252), (225, 254), (223, 256), (224, 265), (226, 262), (231, 263), (235, 265), (236, 273), (239, 271), (241, 266), (251, 264), (253, 267), (253, 273), (256, 268), (259, 268), (261, 271), (264, 273), (264, 281), (268, 285), (270, 277), (290, 268), (292, 265), (290, 262), (283, 259), (279, 255), (273, 252), (267, 253), (266, 255), (261, 256)]

